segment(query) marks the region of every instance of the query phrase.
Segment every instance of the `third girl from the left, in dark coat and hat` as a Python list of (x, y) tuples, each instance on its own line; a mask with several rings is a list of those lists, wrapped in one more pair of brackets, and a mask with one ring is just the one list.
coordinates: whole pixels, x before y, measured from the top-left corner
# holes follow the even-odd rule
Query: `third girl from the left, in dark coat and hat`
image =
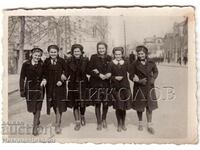
[(88, 78), (86, 69), (89, 63), (88, 58), (83, 57), (83, 46), (74, 44), (71, 48), (72, 57), (67, 60), (68, 67), (68, 102), (70, 107), (73, 107), (74, 118), (76, 125), (74, 130), (78, 131), (85, 125), (85, 105), (86, 105), (86, 87)]

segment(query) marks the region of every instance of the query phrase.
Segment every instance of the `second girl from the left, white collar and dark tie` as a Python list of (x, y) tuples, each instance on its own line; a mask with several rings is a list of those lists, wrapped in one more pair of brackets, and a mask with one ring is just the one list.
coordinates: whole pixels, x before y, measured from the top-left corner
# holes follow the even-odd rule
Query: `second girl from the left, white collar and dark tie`
[(67, 67), (64, 59), (58, 55), (58, 46), (50, 45), (48, 52), (50, 57), (44, 62), (44, 79), (42, 85), (46, 85), (47, 114), (50, 114), (50, 109), (53, 107), (56, 114), (55, 131), (59, 134), (61, 132), (62, 113), (67, 110), (66, 82), (61, 79), (62, 74), (67, 73)]

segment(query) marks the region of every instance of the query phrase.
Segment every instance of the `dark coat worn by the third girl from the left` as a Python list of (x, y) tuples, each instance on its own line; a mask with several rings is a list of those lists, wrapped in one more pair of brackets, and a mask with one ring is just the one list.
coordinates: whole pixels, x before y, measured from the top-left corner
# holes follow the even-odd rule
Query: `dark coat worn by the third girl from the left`
[[(68, 82), (68, 106), (76, 107), (78, 105), (86, 105), (88, 103), (88, 78), (87, 66), (89, 60), (86, 57), (76, 59), (71, 57), (67, 60), (67, 70), (69, 76)], [(74, 91), (73, 91), (74, 90)], [(81, 96), (80, 96), (81, 95)], [(81, 103), (80, 103), (81, 102)]]

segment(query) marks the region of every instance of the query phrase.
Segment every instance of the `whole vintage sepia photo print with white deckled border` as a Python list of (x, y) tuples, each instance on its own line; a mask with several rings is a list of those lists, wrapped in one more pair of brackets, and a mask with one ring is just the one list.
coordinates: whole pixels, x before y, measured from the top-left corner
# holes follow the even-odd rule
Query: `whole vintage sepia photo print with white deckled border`
[(196, 143), (193, 7), (4, 12), (3, 142)]

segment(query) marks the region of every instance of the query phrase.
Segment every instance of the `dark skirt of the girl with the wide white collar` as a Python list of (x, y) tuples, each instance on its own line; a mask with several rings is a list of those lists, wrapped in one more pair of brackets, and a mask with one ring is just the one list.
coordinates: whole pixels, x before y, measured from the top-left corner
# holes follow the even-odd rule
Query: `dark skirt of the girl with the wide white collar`
[(117, 90), (113, 91), (113, 108), (120, 110), (129, 110), (132, 108), (132, 95), (130, 89)]

